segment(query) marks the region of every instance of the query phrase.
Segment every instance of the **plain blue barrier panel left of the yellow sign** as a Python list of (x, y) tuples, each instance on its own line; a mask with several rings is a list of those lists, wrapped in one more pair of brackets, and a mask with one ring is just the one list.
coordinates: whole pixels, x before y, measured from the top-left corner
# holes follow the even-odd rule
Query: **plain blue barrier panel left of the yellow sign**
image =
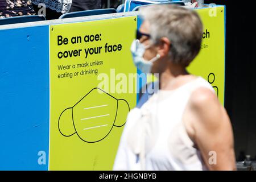
[(0, 170), (47, 170), (48, 26), (1, 30)]

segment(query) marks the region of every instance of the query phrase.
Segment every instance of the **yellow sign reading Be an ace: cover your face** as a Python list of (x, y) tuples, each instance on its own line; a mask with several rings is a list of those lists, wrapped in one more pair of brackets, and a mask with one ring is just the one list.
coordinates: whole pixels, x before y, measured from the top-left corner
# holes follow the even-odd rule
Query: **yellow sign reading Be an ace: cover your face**
[(137, 73), (130, 53), (136, 18), (50, 26), (49, 170), (112, 170), (137, 101), (135, 92), (112, 89), (121, 79), (115, 75)]

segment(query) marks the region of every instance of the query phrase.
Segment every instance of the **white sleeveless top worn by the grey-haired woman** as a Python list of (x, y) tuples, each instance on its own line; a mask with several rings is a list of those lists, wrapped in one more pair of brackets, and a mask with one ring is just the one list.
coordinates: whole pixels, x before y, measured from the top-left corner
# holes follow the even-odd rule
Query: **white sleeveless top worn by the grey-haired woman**
[(207, 170), (188, 137), (183, 113), (192, 92), (212, 86), (198, 77), (175, 90), (159, 90), (141, 109), (130, 111), (114, 170)]

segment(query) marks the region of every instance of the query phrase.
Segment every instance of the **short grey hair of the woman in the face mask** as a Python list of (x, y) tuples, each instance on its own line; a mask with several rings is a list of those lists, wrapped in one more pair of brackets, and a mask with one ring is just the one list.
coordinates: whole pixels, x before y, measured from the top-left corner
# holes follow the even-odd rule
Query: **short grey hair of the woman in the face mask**
[(194, 10), (177, 5), (150, 5), (140, 9), (150, 23), (154, 44), (166, 37), (171, 42), (170, 57), (175, 64), (187, 67), (200, 52), (203, 24)]

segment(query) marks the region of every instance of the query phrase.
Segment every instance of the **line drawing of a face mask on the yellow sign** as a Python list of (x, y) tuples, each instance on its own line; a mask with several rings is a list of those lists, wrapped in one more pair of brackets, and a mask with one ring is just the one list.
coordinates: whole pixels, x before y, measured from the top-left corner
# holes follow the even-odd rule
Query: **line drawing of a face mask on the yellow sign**
[(130, 106), (99, 88), (92, 89), (59, 117), (59, 131), (65, 137), (77, 134), (88, 143), (100, 142), (113, 127), (125, 125)]

